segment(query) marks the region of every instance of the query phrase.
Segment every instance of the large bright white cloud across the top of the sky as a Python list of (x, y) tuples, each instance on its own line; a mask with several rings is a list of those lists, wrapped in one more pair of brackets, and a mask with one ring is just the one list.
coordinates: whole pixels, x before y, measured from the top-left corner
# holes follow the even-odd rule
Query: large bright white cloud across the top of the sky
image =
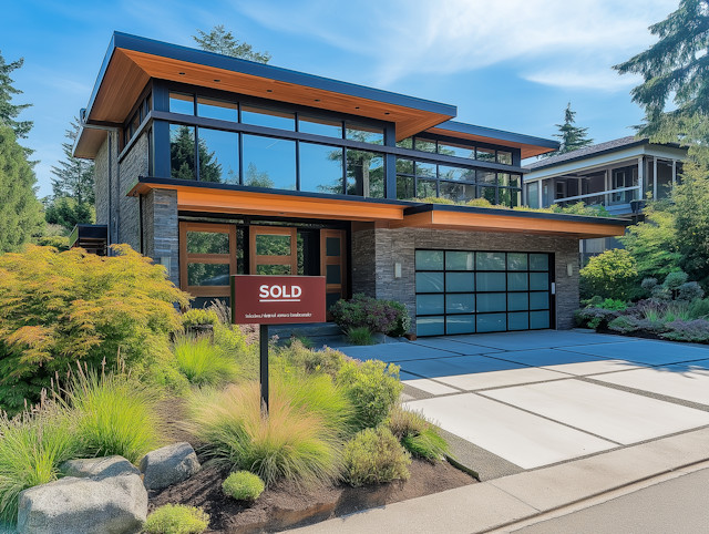
[[(654, 41), (648, 25), (677, 0), (261, 0), (237, 8), (274, 30), (369, 57), (371, 78), (384, 86), (408, 75), (540, 60), (548, 71), (525, 78), (569, 86), (568, 80), (593, 82), (595, 72), (647, 48)], [(584, 68), (568, 75), (567, 65), (582, 59)]]

